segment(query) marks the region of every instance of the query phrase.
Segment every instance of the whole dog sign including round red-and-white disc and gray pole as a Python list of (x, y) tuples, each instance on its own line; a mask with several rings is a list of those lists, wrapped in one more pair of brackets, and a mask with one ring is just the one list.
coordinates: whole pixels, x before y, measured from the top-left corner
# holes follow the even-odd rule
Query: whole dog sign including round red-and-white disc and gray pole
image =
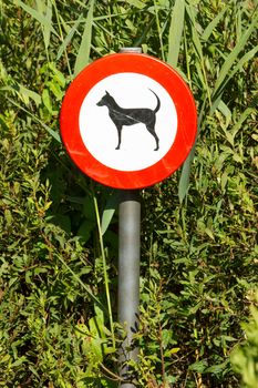
[(138, 190), (172, 175), (189, 154), (197, 112), (192, 92), (167, 63), (122, 49), (89, 64), (69, 86), (60, 114), (61, 137), (73, 162), (101, 184), (121, 190), (118, 320), (121, 387), (135, 387), (133, 336), (140, 299)]

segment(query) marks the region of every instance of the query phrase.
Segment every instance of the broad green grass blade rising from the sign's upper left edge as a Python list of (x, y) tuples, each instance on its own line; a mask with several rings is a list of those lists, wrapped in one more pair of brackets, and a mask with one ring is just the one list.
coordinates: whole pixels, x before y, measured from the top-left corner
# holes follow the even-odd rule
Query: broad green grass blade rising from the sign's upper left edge
[(94, 2), (94, 0), (91, 1), (90, 9), (87, 11), (85, 28), (75, 61), (74, 76), (76, 76), (90, 61)]

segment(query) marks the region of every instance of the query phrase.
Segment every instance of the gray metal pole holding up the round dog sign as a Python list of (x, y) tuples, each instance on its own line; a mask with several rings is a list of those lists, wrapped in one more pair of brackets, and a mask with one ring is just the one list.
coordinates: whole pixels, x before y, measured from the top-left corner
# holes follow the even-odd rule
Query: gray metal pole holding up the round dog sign
[[(124, 48), (120, 52), (137, 52), (140, 48)], [(138, 191), (122, 191), (118, 207), (118, 321), (126, 338), (120, 353), (121, 388), (134, 388), (130, 381), (128, 360), (137, 361), (137, 348), (133, 346), (133, 335), (137, 330), (140, 300), (140, 234), (141, 203)]]

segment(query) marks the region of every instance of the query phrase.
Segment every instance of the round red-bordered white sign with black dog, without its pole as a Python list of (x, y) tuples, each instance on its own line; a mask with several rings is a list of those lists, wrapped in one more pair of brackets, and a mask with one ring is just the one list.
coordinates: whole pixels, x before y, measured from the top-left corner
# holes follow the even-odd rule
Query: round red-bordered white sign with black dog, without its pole
[(116, 188), (143, 188), (173, 174), (196, 136), (190, 90), (165, 62), (111, 54), (87, 65), (69, 86), (61, 137), (73, 162)]

